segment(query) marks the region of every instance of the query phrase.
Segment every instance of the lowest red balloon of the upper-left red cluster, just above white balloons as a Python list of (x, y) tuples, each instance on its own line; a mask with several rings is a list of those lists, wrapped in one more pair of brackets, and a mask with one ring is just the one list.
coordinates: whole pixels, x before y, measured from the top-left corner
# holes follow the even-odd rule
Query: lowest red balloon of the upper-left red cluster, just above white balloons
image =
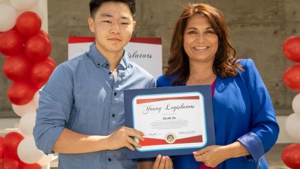
[(13, 104), (23, 105), (33, 99), (36, 91), (36, 87), (28, 81), (15, 81), (8, 89), (8, 98)]

